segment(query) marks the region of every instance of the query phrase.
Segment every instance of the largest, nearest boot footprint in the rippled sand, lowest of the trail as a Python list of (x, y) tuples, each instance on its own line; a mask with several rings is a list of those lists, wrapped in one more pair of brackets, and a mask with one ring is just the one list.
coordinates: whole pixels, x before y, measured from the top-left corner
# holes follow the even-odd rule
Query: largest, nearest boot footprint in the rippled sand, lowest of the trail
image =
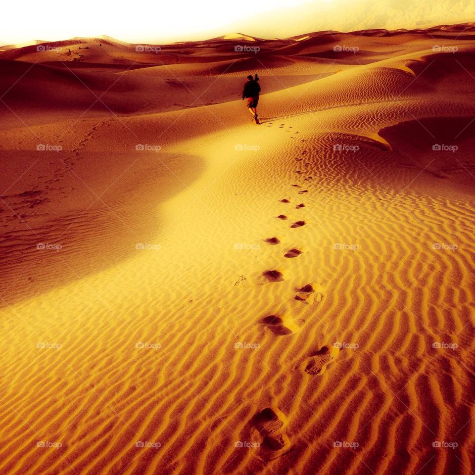
[(252, 424), (264, 438), (264, 449), (277, 451), (290, 446), (286, 434), (288, 419), (279, 409), (266, 407), (252, 418)]

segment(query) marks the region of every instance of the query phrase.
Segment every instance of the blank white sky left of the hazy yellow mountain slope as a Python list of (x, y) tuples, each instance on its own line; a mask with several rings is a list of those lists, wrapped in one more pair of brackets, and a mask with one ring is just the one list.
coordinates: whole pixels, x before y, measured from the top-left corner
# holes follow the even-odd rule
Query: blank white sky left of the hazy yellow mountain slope
[(131, 43), (188, 40), (208, 31), (231, 33), (226, 25), (246, 17), (315, 1), (325, 0), (8, 0), (1, 6), (0, 41), (100, 35)]

